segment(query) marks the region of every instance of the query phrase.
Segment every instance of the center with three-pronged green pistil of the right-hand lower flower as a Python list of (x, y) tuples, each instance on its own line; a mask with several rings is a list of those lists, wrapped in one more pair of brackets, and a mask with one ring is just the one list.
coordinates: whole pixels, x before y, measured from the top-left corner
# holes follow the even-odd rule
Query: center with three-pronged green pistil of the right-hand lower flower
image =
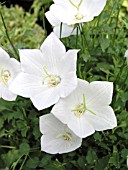
[(93, 111), (91, 111), (90, 109), (87, 108), (86, 106), (86, 100), (85, 100), (85, 95), (83, 94), (83, 103), (80, 103), (78, 104), (75, 109), (72, 110), (72, 112), (74, 112), (74, 115), (77, 117), (77, 118), (80, 118), (84, 113), (85, 111), (88, 111), (94, 115), (96, 115)]

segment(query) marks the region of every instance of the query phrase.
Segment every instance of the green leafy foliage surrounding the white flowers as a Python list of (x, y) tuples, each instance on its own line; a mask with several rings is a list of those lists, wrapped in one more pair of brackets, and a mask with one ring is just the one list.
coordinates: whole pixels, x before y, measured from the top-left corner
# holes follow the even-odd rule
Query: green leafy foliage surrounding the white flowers
[[(27, 12), (18, 5), (0, 7), (16, 49), (40, 47), (52, 31), (44, 16), (51, 3), (52, 0), (35, 0), (33, 4), (31, 1), (32, 6), (26, 8)], [(49, 113), (50, 109), (39, 112), (29, 99), (22, 97), (18, 97), (16, 102), (0, 99), (0, 170), (127, 169), (128, 66), (124, 58), (128, 49), (127, 15), (127, 0), (108, 0), (104, 11), (92, 22), (85, 23), (83, 34), (78, 37), (81, 50), (77, 75), (89, 82), (114, 82), (112, 107), (118, 126), (87, 137), (74, 152), (50, 155), (40, 151), (39, 132), (39, 116)], [(67, 49), (76, 47), (76, 36), (62, 41)], [(15, 57), (1, 19), (0, 45)]]

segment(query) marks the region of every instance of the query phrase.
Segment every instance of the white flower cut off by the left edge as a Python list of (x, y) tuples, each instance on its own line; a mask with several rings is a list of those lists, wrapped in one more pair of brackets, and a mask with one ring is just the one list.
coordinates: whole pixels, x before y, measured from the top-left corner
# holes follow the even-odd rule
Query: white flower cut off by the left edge
[(8, 101), (16, 99), (17, 95), (9, 90), (9, 86), (19, 72), (20, 63), (0, 48), (0, 98)]

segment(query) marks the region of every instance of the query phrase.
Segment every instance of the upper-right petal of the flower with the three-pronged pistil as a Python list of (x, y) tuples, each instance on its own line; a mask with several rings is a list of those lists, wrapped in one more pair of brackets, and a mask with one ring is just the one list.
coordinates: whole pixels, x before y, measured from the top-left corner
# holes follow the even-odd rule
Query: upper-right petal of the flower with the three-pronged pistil
[(86, 89), (87, 105), (107, 106), (112, 101), (113, 83), (104, 81), (94, 81)]

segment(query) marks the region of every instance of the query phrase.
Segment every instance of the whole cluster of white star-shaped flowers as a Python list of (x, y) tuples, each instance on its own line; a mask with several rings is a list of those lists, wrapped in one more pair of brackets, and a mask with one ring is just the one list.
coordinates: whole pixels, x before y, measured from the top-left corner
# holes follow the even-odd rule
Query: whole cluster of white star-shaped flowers
[[(76, 34), (73, 28), (76, 23), (91, 21), (99, 15), (106, 0), (54, 0), (54, 3), (46, 17), (57, 36), (62, 23), (65, 37)], [(38, 110), (54, 105), (51, 113), (40, 117), (41, 150), (51, 154), (73, 151), (81, 146), (82, 138), (117, 126), (110, 106), (113, 83), (78, 79), (79, 50), (66, 52), (55, 33), (46, 38), (40, 49), (19, 50), (20, 62), (0, 48), (0, 98), (9, 101), (17, 95), (30, 98)]]

